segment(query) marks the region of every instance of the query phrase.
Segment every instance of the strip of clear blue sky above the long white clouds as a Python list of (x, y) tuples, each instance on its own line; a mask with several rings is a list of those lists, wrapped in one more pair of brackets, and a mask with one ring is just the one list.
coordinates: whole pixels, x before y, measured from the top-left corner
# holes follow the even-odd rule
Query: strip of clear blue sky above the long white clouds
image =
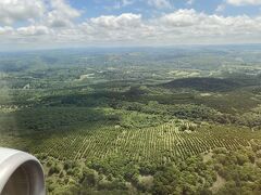
[[(248, 3), (245, 5), (235, 5), (226, 3), (224, 0), (194, 0), (189, 3), (186, 0), (169, 0), (171, 8), (152, 6), (146, 0), (129, 0), (129, 4), (123, 5), (123, 1), (119, 0), (71, 0), (72, 6), (85, 10), (84, 17), (97, 17), (107, 14), (121, 14), (125, 12), (139, 13), (144, 16), (151, 17), (156, 13), (171, 13), (178, 9), (195, 9), (198, 12), (208, 14), (222, 14), (224, 16), (236, 16), (241, 14), (258, 15), (261, 9), (256, 3)], [(224, 4), (225, 9), (222, 12), (216, 12), (219, 5)]]

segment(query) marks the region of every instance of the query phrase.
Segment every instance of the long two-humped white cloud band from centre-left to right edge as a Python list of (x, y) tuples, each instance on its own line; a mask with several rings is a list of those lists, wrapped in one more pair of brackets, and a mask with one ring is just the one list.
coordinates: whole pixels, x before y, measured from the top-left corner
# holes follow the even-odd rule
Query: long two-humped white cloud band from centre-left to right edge
[[(132, 13), (88, 20), (74, 29), (90, 43), (175, 44), (228, 43), (261, 40), (261, 17), (208, 15), (195, 10), (177, 10), (153, 20)], [(72, 36), (73, 37), (73, 36)]]

